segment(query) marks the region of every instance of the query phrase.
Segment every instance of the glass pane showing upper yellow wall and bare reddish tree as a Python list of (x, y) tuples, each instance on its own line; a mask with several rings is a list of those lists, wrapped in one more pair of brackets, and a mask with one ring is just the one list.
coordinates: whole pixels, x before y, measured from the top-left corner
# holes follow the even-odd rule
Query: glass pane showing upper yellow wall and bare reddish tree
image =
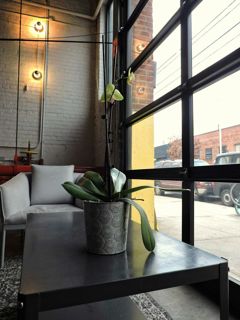
[(130, 127), (129, 146), (129, 170), (165, 167), (162, 160), (181, 159), (181, 102)]

